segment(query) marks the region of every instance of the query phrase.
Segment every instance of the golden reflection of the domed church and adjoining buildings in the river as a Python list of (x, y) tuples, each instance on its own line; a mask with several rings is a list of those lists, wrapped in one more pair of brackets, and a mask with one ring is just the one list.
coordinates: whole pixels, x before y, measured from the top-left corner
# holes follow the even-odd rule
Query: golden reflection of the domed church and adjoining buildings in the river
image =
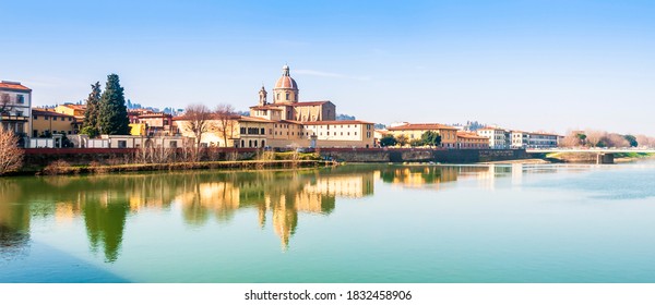
[(283, 249), (298, 225), (298, 213), (329, 215), (337, 197), (362, 197), (373, 194), (373, 173), (310, 171), (263, 171), (223, 173), (216, 180), (195, 179), (176, 202), (184, 219), (202, 224), (211, 213), (227, 221), (239, 208), (257, 208), (259, 225), (271, 221)]

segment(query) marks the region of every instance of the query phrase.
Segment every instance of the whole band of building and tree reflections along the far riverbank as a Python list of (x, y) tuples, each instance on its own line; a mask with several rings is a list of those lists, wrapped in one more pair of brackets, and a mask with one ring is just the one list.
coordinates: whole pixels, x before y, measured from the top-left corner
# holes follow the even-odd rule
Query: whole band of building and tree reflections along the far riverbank
[[(228, 223), (239, 210), (255, 210), (257, 225), (271, 225), (283, 249), (302, 215), (327, 216), (338, 198), (373, 194), (374, 182), (432, 191), (456, 181), (475, 181), (493, 188), (497, 178), (521, 184), (525, 174), (557, 171), (526, 166), (357, 166), (334, 169), (252, 172), (184, 172), (56, 178), (0, 179), (0, 251), (24, 251), (31, 221), (84, 221), (93, 253), (108, 263), (120, 256), (130, 215), (179, 208), (187, 225)], [(480, 186), (478, 185), (478, 186)]]

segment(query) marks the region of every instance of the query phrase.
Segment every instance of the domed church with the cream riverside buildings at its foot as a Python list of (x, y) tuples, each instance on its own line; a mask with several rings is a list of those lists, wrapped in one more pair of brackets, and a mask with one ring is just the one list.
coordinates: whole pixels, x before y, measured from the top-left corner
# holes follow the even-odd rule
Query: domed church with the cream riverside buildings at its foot
[[(183, 117), (176, 118), (180, 132), (193, 133), (186, 127)], [(218, 121), (218, 120), (216, 120)], [(234, 115), (229, 135), (221, 129), (211, 129), (201, 143), (218, 147), (373, 147), (373, 123), (336, 120), (336, 106), (330, 100), (300, 101), (296, 81), (288, 65), (275, 83), (272, 101), (262, 86), (259, 102), (250, 107), (250, 115)], [(218, 122), (215, 122), (217, 124)], [(228, 138), (225, 143), (224, 138)]]

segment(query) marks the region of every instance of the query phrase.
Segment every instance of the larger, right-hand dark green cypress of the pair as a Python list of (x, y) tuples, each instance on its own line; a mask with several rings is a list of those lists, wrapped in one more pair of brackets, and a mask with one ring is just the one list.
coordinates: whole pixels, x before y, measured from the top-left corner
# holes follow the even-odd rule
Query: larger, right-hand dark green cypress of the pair
[(130, 119), (128, 118), (126, 97), (116, 74), (107, 76), (107, 85), (100, 97), (98, 123), (103, 134), (130, 134)]

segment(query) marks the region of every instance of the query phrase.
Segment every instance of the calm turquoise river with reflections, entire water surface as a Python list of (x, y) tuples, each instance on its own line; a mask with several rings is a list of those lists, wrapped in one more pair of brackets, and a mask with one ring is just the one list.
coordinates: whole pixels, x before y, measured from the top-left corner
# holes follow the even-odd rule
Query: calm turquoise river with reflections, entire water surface
[(655, 282), (655, 163), (0, 178), (0, 282)]

